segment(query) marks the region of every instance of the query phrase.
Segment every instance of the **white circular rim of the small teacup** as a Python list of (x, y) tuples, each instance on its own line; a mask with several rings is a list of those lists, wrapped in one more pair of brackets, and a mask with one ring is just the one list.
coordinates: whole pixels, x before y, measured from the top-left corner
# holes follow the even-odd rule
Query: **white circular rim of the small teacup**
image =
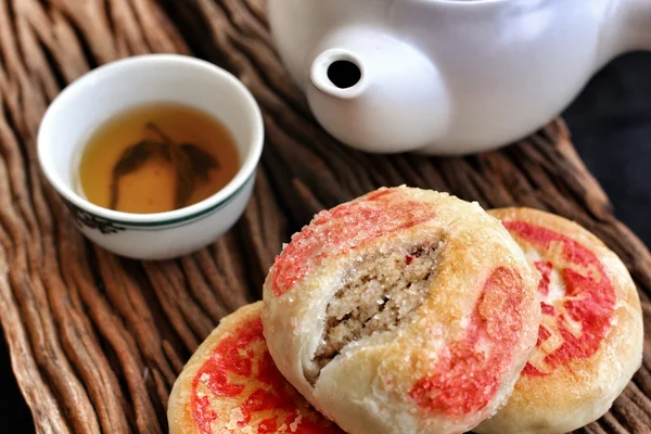
[[(44, 157), (44, 143), (47, 139), (43, 137), (44, 135), (44, 126), (47, 125), (48, 119), (52, 116), (56, 110), (68, 103), (68, 99), (72, 98), (75, 91), (82, 87), (84, 84), (100, 80), (102, 79), (102, 75), (107, 74), (108, 72), (115, 73), (115, 69), (131, 67), (133, 64), (156, 64), (156, 63), (184, 63), (186, 65), (203, 68), (206, 74), (210, 74), (217, 77), (217, 79), (226, 80), (230, 86), (238, 89), (241, 93), (241, 97), (245, 100), (248, 108), (253, 111), (253, 124), (251, 128), (253, 129), (253, 138), (251, 140), (251, 149), (243, 155), (243, 162), (235, 174), (235, 176), (218, 192), (210, 195), (209, 197), (190, 205), (183, 208), (174, 209), (164, 213), (152, 213), (152, 214), (136, 214), (136, 213), (124, 213), (118, 210), (113, 210), (108, 208), (104, 208), (102, 206), (95, 205), (90, 201), (82, 197), (80, 194), (74, 191), (74, 188), (67, 186), (55, 171), (52, 162), (48, 162)], [(166, 225), (169, 221), (180, 221), (188, 218), (192, 218), (193, 216), (201, 215), (206, 210), (214, 209), (220, 204), (228, 201), (233, 195), (237, 195), (242, 187), (251, 179), (251, 177), (255, 176), (255, 170), (259, 163), (264, 140), (264, 120), (260, 107), (248, 90), (246, 86), (237, 78), (233, 74), (226, 71), (225, 68), (217, 66), (210, 62), (196, 59), (186, 54), (140, 54), (133, 55), (129, 58), (119, 59), (113, 62), (108, 62), (104, 65), (101, 65), (84, 75), (78, 77), (68, 84), (49, 104), (46, 110), (42, 119), (39, 125), (39, 130), (37, 133), (37, 154), (38, 162), (41, 167), (41, 170), (50, 182), (50, 184), (63, 196), (63, 199), (69, 204), (74, 205), (77, 208), (80, 208), (89, 214), (92, 214), (97, 217), (100, 217), (104, 220), (125, 224), (125, 225)]]

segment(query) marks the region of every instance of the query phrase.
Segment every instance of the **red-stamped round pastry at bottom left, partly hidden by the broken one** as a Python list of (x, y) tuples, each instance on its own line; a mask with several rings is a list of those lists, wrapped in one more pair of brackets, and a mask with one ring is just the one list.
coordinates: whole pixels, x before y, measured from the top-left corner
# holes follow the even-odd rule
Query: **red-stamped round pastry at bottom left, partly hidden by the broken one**
[(190, 358), (169, 396), (170, 434), (343, 434), (276, 369), (261, 307), (224, 318)]

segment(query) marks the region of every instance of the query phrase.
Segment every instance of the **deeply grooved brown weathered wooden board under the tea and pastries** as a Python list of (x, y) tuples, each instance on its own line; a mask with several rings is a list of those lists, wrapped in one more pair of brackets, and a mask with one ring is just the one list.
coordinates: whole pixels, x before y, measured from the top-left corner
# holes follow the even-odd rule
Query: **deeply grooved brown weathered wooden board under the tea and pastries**
[[(266, 150), (237, 227), (175, 261), (136, 263), (87, 243), (36, 163), (49, 101), (88, 69), (148, 52), (224, 66), (264, 110)], [(643, 302), (644, 366), (586, 433), (649, 433), (651, 256), (554, 122), (468, 158), (372, 156), (315, 123), (273, 51), (264, 0), (0, 0), (0, 321), (43, 433), (159, 433), (177, 373), (219, 318), (257, 299), (281, 243), (311, 216), (380, 186), (449, 191), (486, 207), (577, 220), (618, 253)]]

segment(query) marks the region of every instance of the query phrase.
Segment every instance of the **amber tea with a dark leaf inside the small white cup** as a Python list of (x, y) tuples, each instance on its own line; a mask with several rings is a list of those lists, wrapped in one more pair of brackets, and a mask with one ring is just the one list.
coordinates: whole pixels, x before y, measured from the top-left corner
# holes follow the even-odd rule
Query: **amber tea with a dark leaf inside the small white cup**
[(157, 101), (99, 126), (78, 166), (79, 193), (124, 213), (166, 213), (204, 201), (241, 167), (238, 143), (218, 118)]

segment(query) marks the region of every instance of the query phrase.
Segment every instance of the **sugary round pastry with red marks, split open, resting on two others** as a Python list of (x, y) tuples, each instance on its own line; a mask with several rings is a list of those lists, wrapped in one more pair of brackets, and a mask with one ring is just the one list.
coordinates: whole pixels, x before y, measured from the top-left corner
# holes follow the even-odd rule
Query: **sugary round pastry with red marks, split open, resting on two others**
[(350, 434), (461, 433), (535, 347), (537, 272), (477, 204), (406, 187), (318, 214), (264, 285), (282, 374)]

